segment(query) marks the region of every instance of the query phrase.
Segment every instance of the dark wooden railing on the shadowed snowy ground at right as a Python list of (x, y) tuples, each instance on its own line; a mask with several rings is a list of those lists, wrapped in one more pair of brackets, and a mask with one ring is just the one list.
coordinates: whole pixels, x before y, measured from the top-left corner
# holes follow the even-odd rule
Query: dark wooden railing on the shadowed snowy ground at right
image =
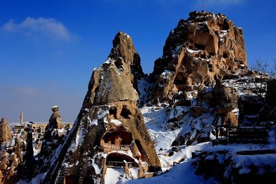
[(227, 143), (266, 143), (267, 132), (266, 127), (242, 127), (242, 126), (228, 126), (217, 125), (216, 137), (219, 138), (219, 129), (225, 130), (224, 138)]

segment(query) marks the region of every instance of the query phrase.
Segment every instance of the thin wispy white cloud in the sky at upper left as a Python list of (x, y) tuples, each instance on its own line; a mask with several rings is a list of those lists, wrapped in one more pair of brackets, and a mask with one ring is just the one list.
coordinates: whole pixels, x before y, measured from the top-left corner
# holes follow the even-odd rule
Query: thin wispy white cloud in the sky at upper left
[(1, 26), (0, 30), (4, 32), (21, 32), (28, 36), (43, 36), (50, 39), (59, 39), (68, 41), (72, 35), (65, 25), (57, 19), (46, 19), (43, 17), (27, 17), (21, 23), (15, 23), (10, 20)]

